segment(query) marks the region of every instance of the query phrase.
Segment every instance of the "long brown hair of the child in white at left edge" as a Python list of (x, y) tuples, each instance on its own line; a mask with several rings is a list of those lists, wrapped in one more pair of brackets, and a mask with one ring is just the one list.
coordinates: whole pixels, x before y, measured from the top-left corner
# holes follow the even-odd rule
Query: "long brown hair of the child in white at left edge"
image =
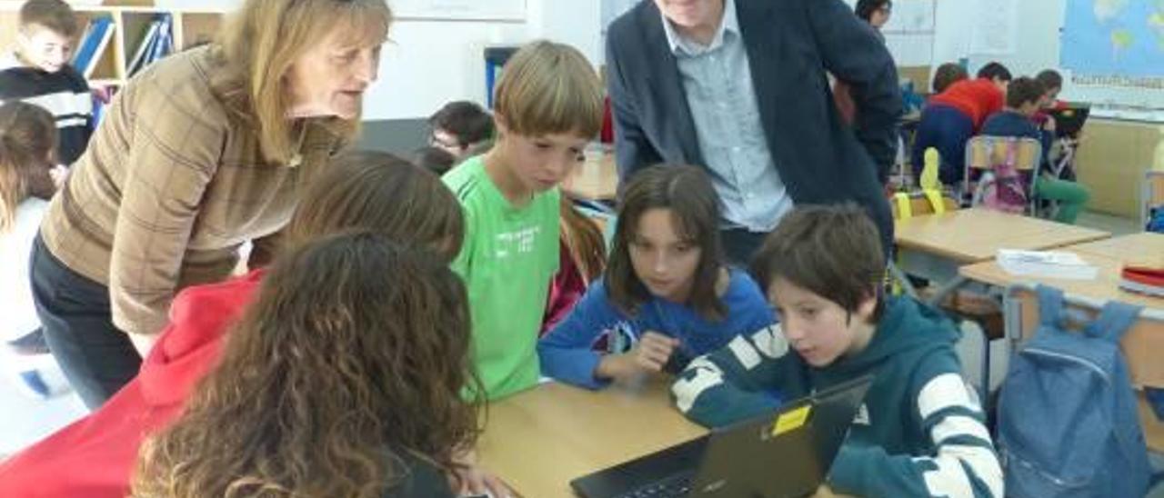
[(21, 101), (0, 106), (0, 234), (15, 223), (33, 177), (48, 176), (56, 143), (57, 127), (48, 111)]

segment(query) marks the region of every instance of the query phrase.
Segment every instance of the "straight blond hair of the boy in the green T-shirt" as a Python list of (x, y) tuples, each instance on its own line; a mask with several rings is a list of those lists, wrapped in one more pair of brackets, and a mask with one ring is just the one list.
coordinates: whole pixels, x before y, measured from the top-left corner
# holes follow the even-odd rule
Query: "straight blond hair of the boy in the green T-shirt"
[(602, 129), (598, 74), (577, 49), (562, 43), (542, 40), (518, 50), (505, 64), (494, 102), (494, 113), (518, 135), (592, 137)]

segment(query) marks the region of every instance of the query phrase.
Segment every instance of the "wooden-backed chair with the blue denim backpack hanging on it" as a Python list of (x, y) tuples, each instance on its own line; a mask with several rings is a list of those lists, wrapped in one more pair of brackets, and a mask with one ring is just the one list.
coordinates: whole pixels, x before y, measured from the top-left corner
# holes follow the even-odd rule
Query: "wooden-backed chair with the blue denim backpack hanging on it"
[[(1093, 320), (1105, 304), (1102, 300), (1070, 293), (1064, 294), (1064, 301), (1067, 314), (1084, 321)], [(1015, 284), (1007, 287), (1003, 294), (1003, 322), (1008, 354), (1034, 337), (1038, 328), (1038, 294), (1034, 285)], [(1141, 311), (1140, 320), (1123, 336), (1122, 346), (1128, 374), (1138, 391), (1140, 421), (1148, 448), (1157, 453), (1164, 451), (1164, 422), (1151, 412), (1142, 390), (1144, 386), (1164, 387), (1164, 362), (1159, 361), (1159, 351), (1164, 350), (1164, 310)], [(988, 376), (989, 370), (986, 372)], [(984, 379), (987, 383), (989, 380), (989, 377)]]

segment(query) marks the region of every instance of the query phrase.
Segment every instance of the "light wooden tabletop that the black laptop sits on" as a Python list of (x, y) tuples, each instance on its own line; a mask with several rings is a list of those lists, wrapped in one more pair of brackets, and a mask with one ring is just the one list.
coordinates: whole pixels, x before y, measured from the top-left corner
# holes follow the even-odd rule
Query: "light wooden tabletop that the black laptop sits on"
[(539, 385), (490, 405), (478, 458), (524, 497), (574, 497), (570, 479), (707, 433), (667, 389), (662, 379), (597, 392)]

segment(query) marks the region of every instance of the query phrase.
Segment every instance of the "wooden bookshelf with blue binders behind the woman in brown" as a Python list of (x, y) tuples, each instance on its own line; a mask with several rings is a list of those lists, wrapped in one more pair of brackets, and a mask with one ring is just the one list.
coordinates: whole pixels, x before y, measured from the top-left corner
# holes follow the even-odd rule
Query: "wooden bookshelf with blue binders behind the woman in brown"
[[(80, 30), (93, 17), (113, 20), (113, 37), (99, 55), (90, 85), (93, 87), (123, 86), (128, 79), (126, 66), (137, 51), (150, 21), (156, 14), (173, 19), (175, 50), (211, 41), (222, 23), (222, 10), (155, 7), (152, 1), (120, 0), (104, 5), (73, 3)], [(20, 6), (23, 1), (0, 1), (0, 50), (8, 50), (16, 41)], [(79, 36), (79, 34), (78, 34)], [(73, 48), (79, 44), (74, 41)]]

